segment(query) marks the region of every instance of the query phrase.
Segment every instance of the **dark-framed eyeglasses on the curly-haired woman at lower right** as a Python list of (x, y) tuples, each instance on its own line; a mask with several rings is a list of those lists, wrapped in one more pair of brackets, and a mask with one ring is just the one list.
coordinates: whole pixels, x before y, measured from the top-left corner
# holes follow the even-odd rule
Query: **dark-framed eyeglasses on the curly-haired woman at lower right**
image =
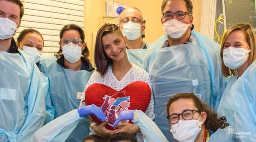
[(194, 112), (201, 113), (198, 110), (193, 110), (193, 109), (186, 109), (184, 110), (181, 114), (171, 114), (167, 116), (166, 118), (169, 120), (170, 124), (175, 124), (178, 123), (180, 120), (180, 115), (184, 120), (191, 120), (194, 117)]

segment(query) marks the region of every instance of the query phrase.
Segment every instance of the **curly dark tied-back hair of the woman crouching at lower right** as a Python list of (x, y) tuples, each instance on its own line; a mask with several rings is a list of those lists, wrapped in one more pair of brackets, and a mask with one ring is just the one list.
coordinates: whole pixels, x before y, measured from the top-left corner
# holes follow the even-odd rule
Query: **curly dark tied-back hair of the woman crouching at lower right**
[(194, 93), (190, 92), (178, 93), (169, 98), (166, 105), (168, 115), (170, 105), (179, 99), (191, 99), (194, 102), (195, 107), (198, 108), (199, 112), (205, 112), (207, 114), (207, 118), (204, 121), (204, 125), (207, 129), (217, 131), (219, 128), (224, 129), (229, 125), (226, 123), (227, 119), (225, 116), (218, 118), (217, 114), (211, 110), (206, 103), (202, 102)]

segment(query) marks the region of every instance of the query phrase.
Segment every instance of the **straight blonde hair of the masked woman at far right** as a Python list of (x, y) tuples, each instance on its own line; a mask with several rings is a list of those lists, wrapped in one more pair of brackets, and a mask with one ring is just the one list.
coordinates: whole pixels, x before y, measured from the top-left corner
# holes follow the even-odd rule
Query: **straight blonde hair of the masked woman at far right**
[(222, 73), (225, 77), (235, 75), (236, 69), (228, 68), (223, 62), (223, 48), (229, 34), (233, 31), (243, 31), (246, 37), (246, 41), (250, 46), (250, 55), (248, 57), (249, 65), (256, 60), (256, 36), (252, 26), (249, 23), (237, 23), (227, 29), (224, 34), (223, 40), (221, 41), (221, 62), (222, 62)]

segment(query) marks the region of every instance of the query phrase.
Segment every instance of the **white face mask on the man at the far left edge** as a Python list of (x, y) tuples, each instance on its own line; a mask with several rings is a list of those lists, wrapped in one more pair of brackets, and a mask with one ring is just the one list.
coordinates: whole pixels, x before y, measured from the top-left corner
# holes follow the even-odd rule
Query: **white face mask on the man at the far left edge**
[(17, 29), (17, 24), (8, 18), (1, 17), (0, 23), (0, 40), (11, 38)]

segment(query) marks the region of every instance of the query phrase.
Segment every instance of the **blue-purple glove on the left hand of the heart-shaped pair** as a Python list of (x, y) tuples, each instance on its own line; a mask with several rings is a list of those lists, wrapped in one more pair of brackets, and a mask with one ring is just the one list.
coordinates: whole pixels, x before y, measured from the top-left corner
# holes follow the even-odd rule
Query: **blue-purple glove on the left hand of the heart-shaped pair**
[(80, 117), (94, 114), (101, 121), (104, 122), (106, 120), (106, 115), (103, 113), (102, 108), (99, 108), (94, 104), (78, 108), (77, 111)]

